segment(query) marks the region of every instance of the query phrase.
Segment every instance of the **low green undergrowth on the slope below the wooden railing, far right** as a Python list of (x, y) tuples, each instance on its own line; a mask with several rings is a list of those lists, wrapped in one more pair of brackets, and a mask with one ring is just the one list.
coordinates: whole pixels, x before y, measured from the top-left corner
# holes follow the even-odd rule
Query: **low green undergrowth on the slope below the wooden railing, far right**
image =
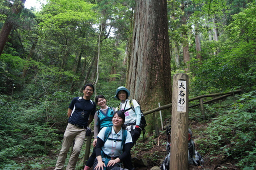
[[(253, 167), (255, 154), (256, 91), (242, 94), (225, 112), (219, 112), (196, 141), (202, 154), (237, 160), (239, 167)], [(220, 108), (222, 109), (222, 108)]]

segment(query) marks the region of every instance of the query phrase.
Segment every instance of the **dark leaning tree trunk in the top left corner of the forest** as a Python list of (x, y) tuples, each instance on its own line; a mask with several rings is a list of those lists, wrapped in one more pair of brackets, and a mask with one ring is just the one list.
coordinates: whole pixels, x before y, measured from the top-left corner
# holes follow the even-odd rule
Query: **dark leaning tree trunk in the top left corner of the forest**
[(13, 22), (17, 16), (19, 16), (20, 11), (24, 7), (24, 3), (26, 0), (15, 0), (13, 3), (13, 6), (11, 8), (12, 13), (8, 15), (7, 19), (5, 20), (4, 24), (2, 25), (2, 28), (0, 30), (0, 55), (2, 53), (3, 47), (8, 40), (8, 35), (11, 31), (11, 28), (13, 26)]

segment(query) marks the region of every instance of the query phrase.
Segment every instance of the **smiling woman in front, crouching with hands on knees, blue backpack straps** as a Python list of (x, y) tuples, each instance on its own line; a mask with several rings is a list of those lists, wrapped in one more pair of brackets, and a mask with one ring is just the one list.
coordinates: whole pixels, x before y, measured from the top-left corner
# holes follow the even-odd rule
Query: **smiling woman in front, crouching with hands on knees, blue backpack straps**
[[(132, 139), (130, 133), (123, 125), (125, 115), (122, 111), (116, 111), (112, 118), (113, 126), (103, 127), (97, 135), (95, 147), (96, 159), (93, 169), (108, 170), (114, 166), (120, 166), (123, 159), (130, 155)], [(130, 167), (124, 167), (132, 169)]]

